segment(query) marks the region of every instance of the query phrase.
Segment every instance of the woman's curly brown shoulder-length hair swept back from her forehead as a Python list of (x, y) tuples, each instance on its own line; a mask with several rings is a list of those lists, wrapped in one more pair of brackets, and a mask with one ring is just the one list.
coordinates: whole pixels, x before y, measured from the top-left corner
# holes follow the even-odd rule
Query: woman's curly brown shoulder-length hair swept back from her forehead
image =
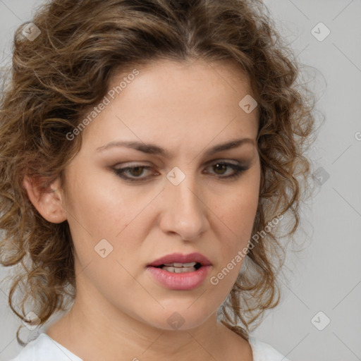
[[(0, 262), (18, 267), (11, 310), (24, 319), (32, 300), (44, 324), (76, 295), (68, 222), (53, 224), (37, 212), (24, 176), (43, 192), (58, 177), (63, 185), (63, 171), (82, 143), (80, 135), (73, 141), (66, 135), (104, 97), (116, 72), (158, 59), (230, 60), (249, 76), (258, 103), (261, 184), (252, 234), (264, 234), (247, 252), (247, 271), (238, 275), (219, 317), (248, 339), (255, 321), (280, 300), (281, 236), (264, 229), (286, 214), (291, 227), (283, 236), (298, 228), (302, 185), (310, 178), (305, 150), (314, 131), (314, 98), (298, 82), (300, 63), (267, 7), (262, 0), (52, 0), (32, 23), (41, 33), (29, 41), (25, 24), (18, 27), (11, 76), (1, 89)], [(23, 314), (13, 303), (21, 285)], [(25, 345), (21, 327), (16, 337)]]

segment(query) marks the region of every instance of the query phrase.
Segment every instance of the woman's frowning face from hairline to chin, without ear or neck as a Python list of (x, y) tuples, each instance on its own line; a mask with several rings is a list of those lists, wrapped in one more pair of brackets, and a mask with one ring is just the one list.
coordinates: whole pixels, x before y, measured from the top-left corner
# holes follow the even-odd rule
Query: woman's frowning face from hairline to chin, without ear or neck
[[(250, 87), (229, 63), (159, 61), (138, 71), (77, 135), (82, 148), (66, 169), (61, 199), (78, 292), (94, 307), (159, 329), (172, 329), (172, 317), (191, 329), (226, 299), (244, 259), (236, 256), (250, 240), (260, 180), (257, 109), (247, 114), (238, 105)], [(209, 265), (203, 259), (187, 274), (149, 267), (193, 252)]]

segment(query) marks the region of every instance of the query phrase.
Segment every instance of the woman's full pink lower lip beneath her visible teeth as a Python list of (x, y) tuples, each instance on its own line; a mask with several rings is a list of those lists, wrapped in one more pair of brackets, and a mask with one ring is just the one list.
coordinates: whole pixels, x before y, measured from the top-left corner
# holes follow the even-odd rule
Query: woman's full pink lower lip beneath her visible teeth
[(212, 266), (202, 266), (196, 271), (184, 272), (183, 274), (176, 274), (164, 269), (148, 266), (149, 274), (158, 281), (161, 286), (171, 290), (192, 290), (200, 286)]

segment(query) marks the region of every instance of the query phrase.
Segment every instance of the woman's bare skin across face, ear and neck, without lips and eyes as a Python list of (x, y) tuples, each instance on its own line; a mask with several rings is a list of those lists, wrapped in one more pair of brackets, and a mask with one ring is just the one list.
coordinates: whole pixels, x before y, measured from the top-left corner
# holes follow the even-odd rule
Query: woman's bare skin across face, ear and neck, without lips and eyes
[[(252, 360), (247, 341), (216, 320), (242, 262), (214, 286), (210, 279), (247, 247), (259, 198), (257, 108), (238, 106), (252, 94), (233, 63), (157, 61), (139, 68), (133, 82), (82, 131), (82, 148), (59, 179), (39, 194), (25, 177), (27, 194), (48, 221), (68, 221), (75, 246), (77, 296), (71, 310), (47, 334), (83, 360)], [(110, 88), (121, 82), (116, 75)], [(247, 137), (239, 147), (212, 156), (214, 145)], [(167, 159), (114, 140), (153, 143)], [(238, 178), (217, 161), (237, 161), (249, 169)], [(114, 169), (141, 164), (127, 176)], [(179, 185), (166, 175), (175, 166)], [(94, 251), (106, 239), (113, 251)], [(212, 262), (207, 279), (193, 290), (169, 290), (146, 266), (173, 252), (200, 252)], [(178, 312), (183, 326), (167, 319)]]

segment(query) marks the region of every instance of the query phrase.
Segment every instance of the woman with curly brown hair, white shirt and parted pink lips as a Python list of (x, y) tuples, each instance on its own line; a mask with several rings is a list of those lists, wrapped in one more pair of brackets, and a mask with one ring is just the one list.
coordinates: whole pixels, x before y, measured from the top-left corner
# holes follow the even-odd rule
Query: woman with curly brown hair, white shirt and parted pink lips
[(309, 178), (290, 59), (261, 1), (53, 0), (19, 27), (1, 263), (27, 327), (66, 314), (13, 360), (287, 360), (250, 331)]

